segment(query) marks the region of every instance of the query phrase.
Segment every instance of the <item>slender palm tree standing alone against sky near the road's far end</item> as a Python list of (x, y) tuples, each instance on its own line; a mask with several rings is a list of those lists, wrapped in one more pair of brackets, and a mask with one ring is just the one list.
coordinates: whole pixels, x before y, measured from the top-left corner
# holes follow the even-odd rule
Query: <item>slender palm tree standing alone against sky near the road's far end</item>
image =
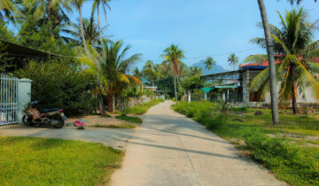
[(181, 74), (181, 59), (184, 58), (184, 51), (178, 48), (178, 45), (172, 44), (164, 50), (164, 54), (161, 55), (164, 58), (163, 64), (170, 66), (172, 74), (174, 76), (174, 89), (175, 100), (177, 104), (177, 91), (176, 91), (176, 78), (178, 74)]

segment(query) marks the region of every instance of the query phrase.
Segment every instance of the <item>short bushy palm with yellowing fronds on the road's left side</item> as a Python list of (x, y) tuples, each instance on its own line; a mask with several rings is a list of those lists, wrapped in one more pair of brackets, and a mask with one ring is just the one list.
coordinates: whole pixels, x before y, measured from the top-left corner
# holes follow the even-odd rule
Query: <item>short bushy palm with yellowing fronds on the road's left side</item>
[(105, 77), (103, 86), (107, 97), (107, 110), (113, 112), (113, 98), (116, 94), (128, 87), (130, 82), (139, 82), (139, 80), (128, 75), (129, 70), (141, 58), (141, 54), (134, 54), (125, 58), (130, 45), (123, 47), (123, 42), (104, 42), (105, 58), (101, 61), (101, 73)]

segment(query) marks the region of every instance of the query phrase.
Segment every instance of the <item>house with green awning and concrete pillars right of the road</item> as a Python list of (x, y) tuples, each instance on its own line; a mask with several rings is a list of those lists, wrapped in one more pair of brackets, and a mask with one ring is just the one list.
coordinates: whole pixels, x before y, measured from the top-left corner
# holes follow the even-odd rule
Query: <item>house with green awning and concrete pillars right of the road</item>
[[(319, 59), (315, 60), (319, 63)], [(280, 63), (276, 60), (276, 64)], [(230, 71), (220, 74), (207, 74), (202, 75), (206, 82), (220, 82), (220, 84), (203, 88), (203, 92), (206, 94), (207, 99), (214, 100), (216, 95), (222, 95), (222, 98), (232, 102), (234, 105), (245, 106), (262, 106), (270, 105), (270, 93), (267, 92), (263, 99), (259, 99), (261, 92), (250, 92), (249, 82), (253, 78), (261, 73), (262, 70), (268, 67), (268, 61), (261, 63), (249, 63), (246, 65), (240, 65), (237, 71)], [(232, 82), (232, 84), (230, 83)], [(279, 87), (278, 87), (279, 89)], [(319, 95), (314, 96), (310, 91), (306, 91), (306, 97), (298, 97), (297, 102), (300, 105), (318, 105)]]

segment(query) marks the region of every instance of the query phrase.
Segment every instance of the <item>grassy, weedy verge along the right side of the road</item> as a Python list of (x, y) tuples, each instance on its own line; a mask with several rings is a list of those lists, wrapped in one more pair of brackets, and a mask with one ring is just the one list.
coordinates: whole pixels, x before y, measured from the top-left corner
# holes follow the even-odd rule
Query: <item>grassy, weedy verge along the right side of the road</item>
[[(179, 103), (176, 112), (197, 120), (223, 138), (237, 142), (276, 177), (292, 185), (319, 185), (319, 120), (315, 114), (281, 111), (279, 126), (268, 109), (233, 108), (227, 114), (209, 102)], [(256, 111), (262, 115), (254, 115)], [(245, 143), (240, 143), (245, 141)]]

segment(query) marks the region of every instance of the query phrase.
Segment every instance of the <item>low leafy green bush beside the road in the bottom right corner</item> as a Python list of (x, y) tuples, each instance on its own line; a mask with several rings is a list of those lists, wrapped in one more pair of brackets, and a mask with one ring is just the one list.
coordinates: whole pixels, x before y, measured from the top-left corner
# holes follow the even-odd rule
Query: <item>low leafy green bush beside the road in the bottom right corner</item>
[(253, 159), (268, 167), (289, 184), (319, 184), (319, 150), (292, 145), (284, 138), (271, 138), (259, 132), (245, 135)]

